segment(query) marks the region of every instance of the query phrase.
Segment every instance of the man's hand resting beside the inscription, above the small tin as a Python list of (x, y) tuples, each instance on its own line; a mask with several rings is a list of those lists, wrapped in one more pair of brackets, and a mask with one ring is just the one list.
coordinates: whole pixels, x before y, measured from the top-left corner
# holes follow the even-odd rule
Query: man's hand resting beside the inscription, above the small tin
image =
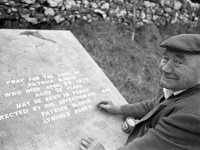
[(102, 101), (97, 105), (97, 107), (108, 113), (121, 115), (121, 107), (119, 105), (114, 105), (111, 101)]

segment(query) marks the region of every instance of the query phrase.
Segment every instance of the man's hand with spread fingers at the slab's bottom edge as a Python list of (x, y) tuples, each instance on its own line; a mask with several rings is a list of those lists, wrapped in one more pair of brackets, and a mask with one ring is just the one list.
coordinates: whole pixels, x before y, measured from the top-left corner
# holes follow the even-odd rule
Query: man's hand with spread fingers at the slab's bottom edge
[(105, 148), (94, 139), (87, 137), (81, 139), (80, 150), (105, 150)]

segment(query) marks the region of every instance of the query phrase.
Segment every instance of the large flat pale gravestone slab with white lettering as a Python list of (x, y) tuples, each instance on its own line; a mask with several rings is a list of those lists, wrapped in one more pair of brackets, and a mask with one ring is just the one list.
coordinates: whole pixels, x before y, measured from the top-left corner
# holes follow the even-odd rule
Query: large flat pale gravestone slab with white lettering
[(0, 149), (78, 150), (94, 137), (125, 143), (122, 119), (102, 100), (125, 104), (70, 31), (0, 30)]

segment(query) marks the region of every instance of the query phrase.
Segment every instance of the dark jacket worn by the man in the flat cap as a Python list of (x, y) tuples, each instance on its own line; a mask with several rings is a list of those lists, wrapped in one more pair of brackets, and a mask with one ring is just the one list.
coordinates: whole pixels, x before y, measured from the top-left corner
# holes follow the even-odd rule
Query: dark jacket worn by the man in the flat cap
[(141, 119), (120, 150), (200, 150), (200, 85), (164, 100), (121, 107), (124, 116)]

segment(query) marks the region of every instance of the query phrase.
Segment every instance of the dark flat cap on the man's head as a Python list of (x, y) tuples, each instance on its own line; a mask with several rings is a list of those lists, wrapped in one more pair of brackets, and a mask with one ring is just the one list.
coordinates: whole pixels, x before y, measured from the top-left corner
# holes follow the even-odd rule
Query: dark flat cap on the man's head
[(200, 34), (179, 34), (171, 36), (160, 43), (160, 47), (186, 53), (200, 54)]

